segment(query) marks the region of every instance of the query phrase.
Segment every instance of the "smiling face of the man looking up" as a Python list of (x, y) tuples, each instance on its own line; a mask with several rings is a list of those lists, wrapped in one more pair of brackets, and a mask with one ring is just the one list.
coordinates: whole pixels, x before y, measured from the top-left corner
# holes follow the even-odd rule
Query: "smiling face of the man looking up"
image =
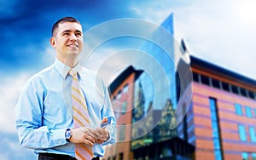
[(82, 26), (76, 22), (64, 22), (56, 28), (50, 39), (57, 57), (65, 62), (67, 58), (76, 58), (84, 47)]

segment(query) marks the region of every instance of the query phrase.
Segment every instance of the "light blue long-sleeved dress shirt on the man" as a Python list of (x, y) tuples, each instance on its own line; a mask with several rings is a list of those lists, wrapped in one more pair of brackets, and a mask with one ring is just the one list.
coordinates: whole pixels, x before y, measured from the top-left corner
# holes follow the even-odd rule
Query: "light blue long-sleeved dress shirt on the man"
[[(73, 143), (65, 139), (66, 129), (73, 129), (71, 99), (72, 77), (70, 67), (59, 60), (38, 72), (26, 83), (15, 107), (16, 128), (20, 145), (36, 153), (50, 152), (75, 156)], [(108, 95), (108, 88), (99, 82), (96, 73), (82, 66), (75, 66), (84, 92), (92, 128), (99, 127), (103, 117), (111, 117), (108, 126), (110, 138), (92, 148), (95, 156), (104, 155), (103, 145), (115, 141), (115, 118)], [(100, 84), (100, 85), (99, 85)]]

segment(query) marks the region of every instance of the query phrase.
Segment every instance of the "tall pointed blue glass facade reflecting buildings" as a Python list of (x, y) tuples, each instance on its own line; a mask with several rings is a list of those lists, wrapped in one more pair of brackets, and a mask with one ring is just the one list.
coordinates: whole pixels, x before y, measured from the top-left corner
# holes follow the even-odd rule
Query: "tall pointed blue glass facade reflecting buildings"
[[(166, 20), (165, 28), (169, 34), (173, 34), (172, 16)], [(150, 54), (150, 63), (144, 56), (135, 56), (133, 61), (143, 63), (144, 68), (137, 78), (134, 88), (131, 149), (147, 146), (148, 143), (157, 143), (171, 138), (170, 123), (174, 108), (177, 106), (174, 65), (174, 39), (169, 39), (169, 53), (159, 44), (166, 43), (165, 35), (153, 33), (155, 42), (146, 42), (141, 50)], [(158, 42), (158, 43), (156, 43)], [(171, 55), (170, 55), (171, 54)], [(149, 62), (149, 63), (148, 63)], [(136, 64), (136, 62), (135, 62)]]

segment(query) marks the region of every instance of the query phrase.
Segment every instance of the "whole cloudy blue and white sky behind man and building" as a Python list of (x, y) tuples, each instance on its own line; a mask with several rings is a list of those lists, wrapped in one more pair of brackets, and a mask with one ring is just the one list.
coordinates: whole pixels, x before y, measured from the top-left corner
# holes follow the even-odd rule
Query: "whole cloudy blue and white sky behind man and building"
[(87, 31), (120, 18), (149, 20), (160, 25), (174, 13), (177, 36), (186, 39), (191, 54), (255, 79), (255, 8), (253, 0), (1, 0), (0, 135), (10, 142), (0, 147), (3, 159), (16, 159), (12, 151), (19, 157), (23, 154), (33, 158), (32, 152), (22, 149), (15, 138), (14, 107), (27, 78), (55, 59), (49, 46), (55, 20), (74, 16)]

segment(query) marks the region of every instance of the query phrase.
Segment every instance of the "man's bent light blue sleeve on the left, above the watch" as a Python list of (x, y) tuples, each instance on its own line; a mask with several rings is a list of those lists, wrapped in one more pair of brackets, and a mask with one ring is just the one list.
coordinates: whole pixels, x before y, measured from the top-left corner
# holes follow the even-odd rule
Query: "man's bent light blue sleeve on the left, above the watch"
[(66, 129), (49, 129), (42, 126), (45, 96), (43, 87), (34, 81), (27, 83), (20, 94), (15, 115), (21, 146), (44, 149), (67, 143), (64, 136)]

